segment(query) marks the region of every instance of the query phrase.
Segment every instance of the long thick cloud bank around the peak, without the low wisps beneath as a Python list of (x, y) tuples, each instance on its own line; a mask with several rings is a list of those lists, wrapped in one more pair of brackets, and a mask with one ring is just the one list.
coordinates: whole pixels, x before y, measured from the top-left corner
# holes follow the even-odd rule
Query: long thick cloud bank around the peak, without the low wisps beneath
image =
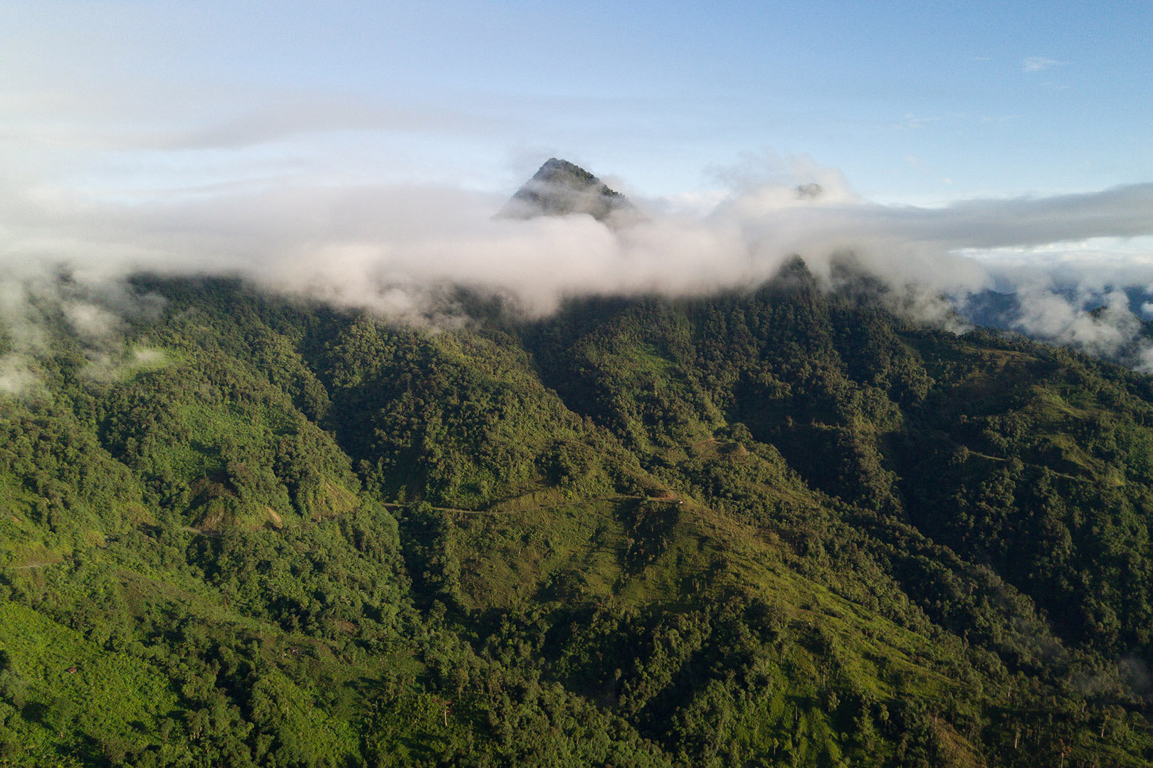
[[(759, 175), (731, 170), (738, 191), (707, 215), (649, 206), (647, 222), (619, 231), (587, 216), (495, 221), (504, 196), (436, 185), (294, 178), (131, 204), (74, 190), (9, 190), (0, 264), (9, 275), (66, 265), (90, 283), (138, 269), (241, 274), (401, 314), (419, 314), (431, 287), (461, 283), (547, 312), (580, 292), (747, 284), (792, 253), (826, 274), (835, 254), (852, 252), (895, 282), (978, 290), (994, 282), (996, 265), (965, 249), (1153, 234), (1153, 184), (926, 208), (862, 200), (839, 172), (808, 159), (782, 161), (774, 181), (758, 183)], [(804, 184), (822, 193), (798, 196)], [(76, 321), (93, 326), (99, 317)]]

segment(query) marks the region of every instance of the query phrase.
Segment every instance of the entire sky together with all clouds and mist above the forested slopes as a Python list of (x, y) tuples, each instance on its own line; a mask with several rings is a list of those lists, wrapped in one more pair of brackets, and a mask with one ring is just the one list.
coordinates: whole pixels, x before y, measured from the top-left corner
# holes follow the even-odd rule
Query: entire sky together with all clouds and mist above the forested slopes
[[(947, 327), (1015, 291), (1019, 330), (1153, 372), (1150, 30), (1145, 0), (9, 0), (0, 391), (45, 312), (111, 353), (141, 269), (443, 325), (450, 286), (540, 315), (793, 254)], [(643, 215), (493, 219), (550, 157)]]

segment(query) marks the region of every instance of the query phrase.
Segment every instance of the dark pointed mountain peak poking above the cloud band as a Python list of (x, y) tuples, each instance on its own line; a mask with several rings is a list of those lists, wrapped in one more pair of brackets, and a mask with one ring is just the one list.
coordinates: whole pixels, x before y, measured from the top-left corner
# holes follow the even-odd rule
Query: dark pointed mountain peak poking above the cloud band
[(572, 213), (586, 213), (604, 222), (617, 220), (621, 214), (639, 215), (624, 195), (580, 166), (559, 158), (545, 160), (500, 211), (502, 216), (510, 219)]

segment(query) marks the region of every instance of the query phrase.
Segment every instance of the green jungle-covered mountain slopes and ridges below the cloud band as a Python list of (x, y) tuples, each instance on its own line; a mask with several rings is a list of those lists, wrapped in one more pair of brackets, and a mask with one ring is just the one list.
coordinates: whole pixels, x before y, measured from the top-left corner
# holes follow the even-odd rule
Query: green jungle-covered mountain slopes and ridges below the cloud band
[(0, 766), (1153, 760), (1150, 377), (799, 261), (440, 330), (134, 291), (0, 397)]

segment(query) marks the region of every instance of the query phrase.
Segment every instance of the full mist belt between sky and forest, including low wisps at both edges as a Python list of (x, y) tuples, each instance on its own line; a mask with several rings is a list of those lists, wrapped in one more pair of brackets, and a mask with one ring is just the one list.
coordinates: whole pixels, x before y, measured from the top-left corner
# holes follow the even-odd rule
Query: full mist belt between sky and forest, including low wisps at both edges
[(39, 340), (36, 306), (58, 305), (100, 352), (126, 318), (159, 306), (126, 288), (138, 272), (239, 276), (444, 326), (460, 322), (453, 287), (541, 317), (576, 296), (749, 289), (794, 254), (826, 287), (851, 266), (889, 289), (895, 311), (955, 330), (964, 329), (955, 304), (1015, 291), (1022, 333), (1153, 371), (1153, 347), (1121, 292), (1153, 283), (1153, 250), (1140, 239), (1153, 235), (1153, 184), (917, 207), (871, 203), (836, 169), (805, 162), (769, 181), (740, 177), (706, 211), (634, 197), (645, 216), (606, 226), (588, 215), (499, 219), (513, 190), (452, 185), (302, 176), (116, 195), (7, 181), (0, 313), (12, 349), (0, 388), (9, 391), (29, 381), (21, 359)]

